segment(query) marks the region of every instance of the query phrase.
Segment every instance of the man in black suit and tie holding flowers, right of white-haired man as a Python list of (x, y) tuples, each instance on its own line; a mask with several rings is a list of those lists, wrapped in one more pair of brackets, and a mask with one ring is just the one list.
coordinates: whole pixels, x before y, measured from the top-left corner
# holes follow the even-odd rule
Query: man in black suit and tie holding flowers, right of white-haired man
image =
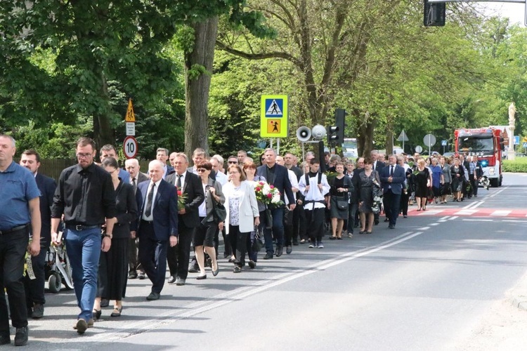
[(185, 197), (185, 207), (178, 210), (179, 245), (169, 249), (169, 284), (185, 285), (188, 276), (190, 259), (190, 242), (194, 228), (200, 225), (198, 208), (205, 199), (201, 179), (188, 168), (186, 154), (178, 153), (174, 157), (174, 170), (167, 177), (167, 182), (178, 188), (178, 193)]

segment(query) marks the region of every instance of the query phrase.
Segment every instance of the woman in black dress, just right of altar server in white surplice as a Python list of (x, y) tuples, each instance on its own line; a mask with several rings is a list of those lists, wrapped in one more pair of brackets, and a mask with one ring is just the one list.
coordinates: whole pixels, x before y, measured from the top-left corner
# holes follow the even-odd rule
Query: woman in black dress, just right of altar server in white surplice
[[(344, 227), (344, 220), (348, 219), (349, 209), (349, 194), (351, 191), (351, 178), (344, 176), (344, 164), (337, 161), (334, 165), (337, 176), (331, 182), (330, 188), (330, 217), (332, 237), (330, 239), (342, 239), (342, 228)], [(339, 208), (339, 202), (345, 203), (345, 208)]]

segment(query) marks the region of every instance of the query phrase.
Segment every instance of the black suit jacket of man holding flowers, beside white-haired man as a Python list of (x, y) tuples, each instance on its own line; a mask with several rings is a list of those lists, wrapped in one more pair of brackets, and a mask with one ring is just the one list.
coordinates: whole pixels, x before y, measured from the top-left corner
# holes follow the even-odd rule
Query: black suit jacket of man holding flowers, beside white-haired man
[[(170, 185), (176, 186), (177, 173), (172, 173), (167, 176), (167, 182)], [(185, 182), (183, 183), (183, 194), (186, 194), (185, 199), (185, 214), (179, 216), (179, 224), (185, 225), (188, 228), (198, 227), (200, 225), (200, 212), (198, 209), (205, 200), (205, 194), (201, 185), (201, 178), (187, 169)]]

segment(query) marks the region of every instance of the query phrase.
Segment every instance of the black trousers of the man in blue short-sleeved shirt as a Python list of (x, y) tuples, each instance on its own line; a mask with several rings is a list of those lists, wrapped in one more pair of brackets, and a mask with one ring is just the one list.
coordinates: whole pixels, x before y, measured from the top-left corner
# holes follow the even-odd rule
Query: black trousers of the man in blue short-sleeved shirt
[(9, 335), (9, 317), (6, 295), (9, 300), (11, 322), (15, 328), (27, 326), (27, 305), (25, 301), (24, 258), (29, 243), (28, 228), (0, 235), (0, 334)]

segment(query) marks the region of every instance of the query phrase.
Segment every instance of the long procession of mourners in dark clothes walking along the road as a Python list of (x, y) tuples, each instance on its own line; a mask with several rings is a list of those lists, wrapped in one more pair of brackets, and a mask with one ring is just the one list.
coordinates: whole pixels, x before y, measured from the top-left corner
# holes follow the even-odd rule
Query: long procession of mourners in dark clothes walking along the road
[[(207, 279), (207, 267), (213, 277), (221, 274), (228, 266), (220, 262), (220, 233), (223, 258), (240, 273), (246, 265), (256, 268), (259, 246), (264, 260), (301, 244), (323, 249), (326, 232), (332, 240), (352, 238), (357, 228), (371, 234), (383, 208), (395, 229), (414, 201), (426, 211), (449, 194), (455, 201), (476, 197), (482, 175), (476, 158), (462, 156), (385, 160), (371, 152), (351, 160), (326, 153), (321, 164), (313, 152), (299, 162), (292, 153), (266, 149), (256, 160), (240, 150), (225, 164), (199, 148), (193, 166), (186, 154), (159, 148), (143, 173), (137, 159), (120, 168), (112, 145), (98, 150), (96, 163), (95, 143), (80, 138), (77, 164), (56, 182), (38, 172), (38, 152), (25, 150), (16, 164), (15, 151), (15, 140), (0, 135), (0, 197), (9, 204), (0, 206), (0, 289), (7, 292), (15, 345), (27, 343), (28, 317), (44, 317), (50, 245), (67, 249), (80, 310), (73, 328), (84, 333), (110, 301), (110, 316), (121, 316), (128, 279), (148, 278), (146, 300), (157, 300), (165, 282), (183, 286), (189, 272), (197, 280)], [(24, 274), (26, 252), (31, 274)], [(8, 307), (0, 298), (0, 345), (8, 343)]]

